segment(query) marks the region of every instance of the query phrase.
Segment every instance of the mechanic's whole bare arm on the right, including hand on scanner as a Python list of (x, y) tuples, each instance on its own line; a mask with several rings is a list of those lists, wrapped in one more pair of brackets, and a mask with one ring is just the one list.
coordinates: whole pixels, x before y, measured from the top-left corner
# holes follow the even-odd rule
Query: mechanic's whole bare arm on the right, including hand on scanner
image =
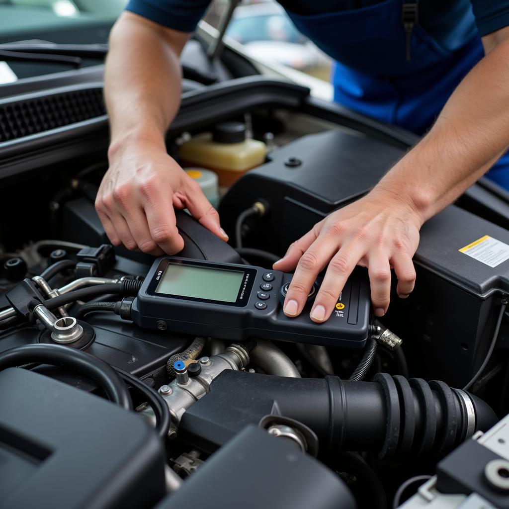
[(333, 212), (293, 243), (277, 270), (295, 267), (285, 313), (298, 315), (318, 273), (328, 268), (311, 318), (326, 320), (356, 265), (368, 268), (375, 315), (413, 290), (412, 257), (423, 222), (453, 202), (509, 147), (509, 28), (483, 38), (487, 55), (460, 83), (430, 132), (373, 190)]

